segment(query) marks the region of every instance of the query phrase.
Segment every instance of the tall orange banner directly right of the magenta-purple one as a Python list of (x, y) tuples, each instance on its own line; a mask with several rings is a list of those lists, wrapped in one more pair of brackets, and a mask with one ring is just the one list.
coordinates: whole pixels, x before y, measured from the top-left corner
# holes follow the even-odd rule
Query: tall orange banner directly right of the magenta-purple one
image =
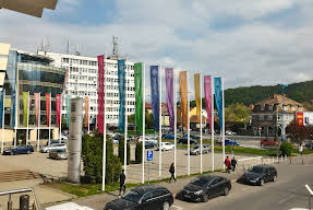
[(181, 115), (185, 130), (188, 129), (188, 102), (186, 102), (186, 71), (179, 72), (179, 89), (181, 98)]

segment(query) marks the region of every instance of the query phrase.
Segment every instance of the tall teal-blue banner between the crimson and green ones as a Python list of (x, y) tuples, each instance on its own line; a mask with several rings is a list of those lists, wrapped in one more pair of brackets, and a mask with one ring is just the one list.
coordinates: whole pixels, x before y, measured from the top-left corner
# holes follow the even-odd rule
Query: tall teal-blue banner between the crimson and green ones
[(125, 126), (125, 60), (118, 60), (119, 93), (120, 93), (120, 112), (119, 129), (124, 131)]

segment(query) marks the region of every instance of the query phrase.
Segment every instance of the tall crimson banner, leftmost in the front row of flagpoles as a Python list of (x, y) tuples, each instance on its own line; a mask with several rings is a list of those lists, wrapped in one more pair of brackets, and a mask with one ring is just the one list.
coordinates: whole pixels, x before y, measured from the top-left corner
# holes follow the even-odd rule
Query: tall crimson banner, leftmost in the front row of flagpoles
[(105, 112), (105, 56), (98, 56), (98, 132), (104, 133), (104, 112)]

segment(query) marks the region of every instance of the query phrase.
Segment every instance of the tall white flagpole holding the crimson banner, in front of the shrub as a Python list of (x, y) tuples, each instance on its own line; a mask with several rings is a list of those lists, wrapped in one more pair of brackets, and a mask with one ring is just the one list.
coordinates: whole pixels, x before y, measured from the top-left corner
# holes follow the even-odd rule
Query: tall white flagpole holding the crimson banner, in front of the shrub
[[(103, 152), (103, 191), (106, 190), (106, 167), (107, 167), (107, 124), (106, 124), (106, 107), (107, 107), (107, 93), (106, 93), (106, 62), (107, 62), (107, 54), (104, 59), (104, 152)], [(89, 100), (89, 98), (88, 98)], [(88, 103), (89, 108), (89, 103)], [(89, 128), (89, 119), (88, 119), (88, 128)], [(89, 133), (89, 132), (88, 132)]]

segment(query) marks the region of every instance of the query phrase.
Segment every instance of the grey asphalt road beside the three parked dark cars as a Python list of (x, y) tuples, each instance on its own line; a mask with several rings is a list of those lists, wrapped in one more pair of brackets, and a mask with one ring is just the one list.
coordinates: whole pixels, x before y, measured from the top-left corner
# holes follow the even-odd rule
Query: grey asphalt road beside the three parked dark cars
[[(218, 197), (205, 203), (174, 201), (171, 209), (198, 210), (286, 210), (291, 208), (309, 208), (305, 184), (313, 188), (313, 164), (278, 165), (278, 180), (264, 186), (233, 184), (227, 197)], [(313, 202), (313, 199), (312, 199)]]

